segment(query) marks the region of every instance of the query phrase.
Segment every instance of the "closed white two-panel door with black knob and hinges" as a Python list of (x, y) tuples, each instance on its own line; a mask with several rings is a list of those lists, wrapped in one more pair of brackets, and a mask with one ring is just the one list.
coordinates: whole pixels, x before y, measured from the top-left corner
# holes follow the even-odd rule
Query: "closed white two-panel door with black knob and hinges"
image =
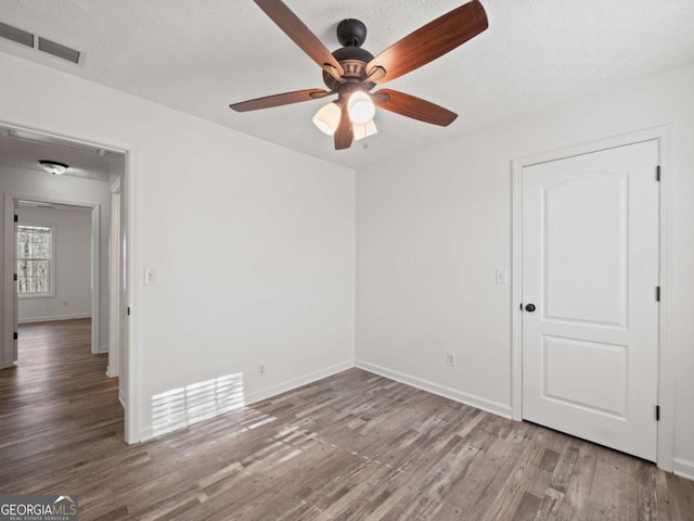
[[(655, 461), (657, 140), (523, 169), (523, 417)], [(535, 309), (532, 309), (535, 307)]]

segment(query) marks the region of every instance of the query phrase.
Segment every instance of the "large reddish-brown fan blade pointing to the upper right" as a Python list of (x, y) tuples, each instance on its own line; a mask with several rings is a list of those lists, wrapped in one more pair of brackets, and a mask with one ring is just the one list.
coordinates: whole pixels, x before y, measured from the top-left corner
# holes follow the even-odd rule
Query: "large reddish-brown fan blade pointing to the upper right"
[(462, 46), (488, 26), (485, 8), (479, 0), (473, 0), (420, 27), (383, 51), (369, 62), (367, 73), (371, 73), (373, 67), (383, 67), (385, 76), (374, 81), (390, 81)]

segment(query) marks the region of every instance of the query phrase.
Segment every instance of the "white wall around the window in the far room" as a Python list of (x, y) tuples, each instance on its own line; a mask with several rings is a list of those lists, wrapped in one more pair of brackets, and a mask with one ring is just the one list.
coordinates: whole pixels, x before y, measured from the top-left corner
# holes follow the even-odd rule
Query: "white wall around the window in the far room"
[(21, 206), (18, 216), (20, 225), (52, 228), (54, 255), (53, 296), (20, 298), (20, 322), (91, 316), (91, 208)]

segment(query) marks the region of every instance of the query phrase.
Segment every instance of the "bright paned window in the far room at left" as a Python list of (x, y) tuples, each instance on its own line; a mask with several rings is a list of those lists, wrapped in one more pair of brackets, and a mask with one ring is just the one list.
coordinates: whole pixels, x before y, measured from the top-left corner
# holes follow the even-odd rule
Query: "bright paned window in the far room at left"
[(50, 226), (17, 226), (17, 292), (20, 296), (53, 295), (53, 230)]

